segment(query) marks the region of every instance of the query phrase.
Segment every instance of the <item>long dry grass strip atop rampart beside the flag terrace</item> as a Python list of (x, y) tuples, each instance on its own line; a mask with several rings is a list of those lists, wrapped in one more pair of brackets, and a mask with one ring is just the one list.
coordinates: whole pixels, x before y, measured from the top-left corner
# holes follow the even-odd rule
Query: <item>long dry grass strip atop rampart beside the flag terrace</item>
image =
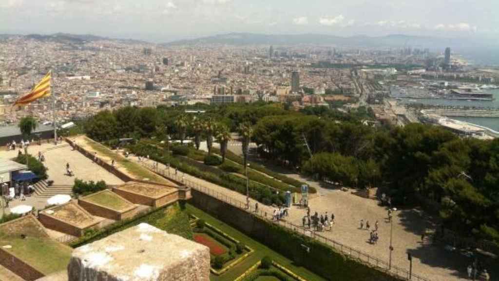
[(95, 142), (87, 137), (83, 138), (86, 143), (95, 151), (97, 151), (97, 156), (99, 154), (105, 155), (111, 159), (114, 159), (115, 164), (117, 166), (122, 166), (124, 167), (130, 174), (132, 174), (136, 179), (144, 179), (144, 178), (149, 178), (151, 181), (155, 181), (158, 183), (164, 183), (164, 184), (170, 184), (170, 181), (165, 180), (163, 177), (157, 175), (156, 173), (148, 170), (147, 168), (144, 168), (140, 164), (134, 163), (127, 158), (123, 157), (122, 155), (112, 151), (111, 149), (107, 148), (106, 146)]

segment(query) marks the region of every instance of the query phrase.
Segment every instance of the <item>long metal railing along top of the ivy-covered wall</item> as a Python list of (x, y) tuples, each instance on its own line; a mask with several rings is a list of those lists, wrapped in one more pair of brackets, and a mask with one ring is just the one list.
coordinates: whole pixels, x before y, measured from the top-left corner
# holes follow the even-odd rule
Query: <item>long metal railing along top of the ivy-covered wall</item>
[(193, 181), (185, 178), (185, 176), (182, 175), (183, 174), (182, 172), (179, 172), (180, 173), (179, 174), (176, 172), (171, 172), (170, 169), (167, 170), (167, 169), (163, 169), (163, 168), (158, 168), (157, 166), (146, 163), (146, 162), (140, 162), (140, 163), (144, 167), (146, 167), (146, 168), (148, 168), (148, 169), (150, 169), (150, 170), (152, 170), (152, 171), (154, 171), (154, 172), (156, 172), (164, 177), (171, 178), (173, 180), (181, 182), (181, 183), (185, 184), (186, 186), (191, 187), (192, 189), (196, 189), (197, 191), (200, 191), (200, 192), (203, 192), (209, 196), (215, 197), (223, 202), (226, 202), (230, 205), (238, 207), (238, 208), (240, 208), (244, 211), (247, 211), (253, 215), (257, 215), (264, 220), (267, 220), (267, 221), (270, 221), (272, 223), (278, 224), (280, 226), (286, 227), (292, 231), (295, 231), (297, 233), (311, 237), (312, 239), (315, 239), (319, 242), (325, 243), (325, 244), (333, 247), (337, 251), (347, 255), (348, 257), (350, 257), (352, 259), (355, 259), (355, 260), (360, 261), (364, 264), (372, 266), (378, 270), (387, 272), (387, 273), (389, 273), (397, 278), (405, 279), (405, 280), (430, 281), (430, 279), (425, 278), (423, 276), (420, 276), (414, 272), (412, 272), (412, 274), (410, 274), (410, 272), (407, 269), (398, 267), (398, 266), (393, 265), (393, 264), (390, 266), (390, 264), (386, 260), (372, 256), (368, 253), (365, 253), (361, 250), (355, 249), (353, 247), (350, 247), (348, 245), (345, 245), (345, 244), (340, 243), (338, 241), (335, 241), (333, 239), (324, 237), (313, 230), (309, 230), (309, 229), (306, 229), (306, 228), (301, 227), (299, 225), (296, 225), (294, 223), (288, 222), (285, 219), (274, 220), (274, 219), (272, 219), (271, 213), (267, 213), (265, 210), (262, 210), (261, 208), (258, 208), (258, 210), (256, 210), (255, 207), (252, 206), (251, 204), (249, 206), (247, 206), (246, 202), (243, 202), (243, 201), (240, 201), (238, 199), (227, 196), (226, 194), (223, 194), (223, 193), (216, 191), (212, 188), (203, 186), (197, 182), (193, 182)]

